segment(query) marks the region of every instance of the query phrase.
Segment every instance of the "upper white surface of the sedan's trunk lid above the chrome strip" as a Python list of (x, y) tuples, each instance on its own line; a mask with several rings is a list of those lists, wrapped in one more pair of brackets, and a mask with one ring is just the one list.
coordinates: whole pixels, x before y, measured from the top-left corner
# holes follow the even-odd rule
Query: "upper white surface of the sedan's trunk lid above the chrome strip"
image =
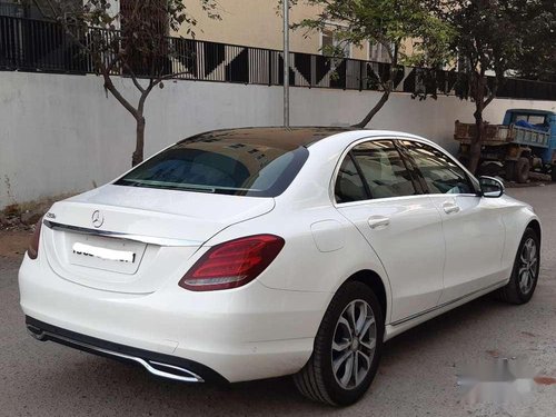
[(50, 211), (53, 221), (90, 228), (91, 210), (101, 210), (106, 230), (202, 244), (229, 225), (269, 212), (274, 203), (271, 198), (107, 185), (57, 202)]

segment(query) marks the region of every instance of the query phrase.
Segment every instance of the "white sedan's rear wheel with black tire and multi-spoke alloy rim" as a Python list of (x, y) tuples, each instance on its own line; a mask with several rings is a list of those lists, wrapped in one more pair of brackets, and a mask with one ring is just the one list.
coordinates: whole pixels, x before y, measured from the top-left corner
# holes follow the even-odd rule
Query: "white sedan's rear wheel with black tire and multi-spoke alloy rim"
[(294, 376), (297, 388), (331, 406), (356, 403), (375, 378), (383, 336), (383, 308), (375, 294), (365, 284), (345, 284), (328, 306), (309, 361)]

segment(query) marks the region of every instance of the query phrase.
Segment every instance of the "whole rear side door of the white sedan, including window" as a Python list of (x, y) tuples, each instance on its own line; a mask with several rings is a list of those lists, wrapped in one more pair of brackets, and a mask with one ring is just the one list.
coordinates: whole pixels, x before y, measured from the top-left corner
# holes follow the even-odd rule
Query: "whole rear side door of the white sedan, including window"
[(441, 218), (393, 140), (359, 143), (336, 180), (337, 209), (383, 262), (393, 294), (391, 322), (437, 306), (443, 290)]

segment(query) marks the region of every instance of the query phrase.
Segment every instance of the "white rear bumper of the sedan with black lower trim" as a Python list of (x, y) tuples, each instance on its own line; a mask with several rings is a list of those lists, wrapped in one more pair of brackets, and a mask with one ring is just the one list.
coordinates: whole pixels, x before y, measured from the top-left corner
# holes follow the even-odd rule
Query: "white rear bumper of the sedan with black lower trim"
[(59, 277), (40, 254), (37, 260), (26, 256), (19, 288), (38, 338), (131, 356), (119, 358), (149, 371), (146, 364), (156, 361), (202, 380), (216, 374), (230, 383), (298, 371), (312, 353), (330, 299), (325, 292), (270, 289), (258, 280), (210, 292), (188, 291), (177, 282), (146, 295), (101, 291)]

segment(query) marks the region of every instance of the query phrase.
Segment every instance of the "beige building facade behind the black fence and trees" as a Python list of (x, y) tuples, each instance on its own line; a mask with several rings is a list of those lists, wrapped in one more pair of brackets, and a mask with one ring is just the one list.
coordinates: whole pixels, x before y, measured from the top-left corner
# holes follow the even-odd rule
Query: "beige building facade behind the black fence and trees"
[[(80, 1), (75, 0), (76, 3)], [(133, 1), (113, 1), (111, 10), (125, 12), (126, 8), (131, 7)], [(218, 0), (217, 12), (221, 20), (210, 19), (202, 10), (199, 0), (185, 1), (188, 12), (198, 21), (193, 29), (196, 38), (199, 40), (277, 50), (281, 50), (284, 47), (284, 23), (278, 0)], [(301, 0), (291, 8), (290, 23), (314, 18), (319, 12), (319, 7), (309, 6)], [(49, 2), (44, 0), (0, 0), (0, 16), (40, 20), (48, 19), (50, 14)], [(330, 22), (329, 30), (324, 31), (291, 30), (290, 50), (321, 54), (322, 47), (337, 44), (334, 28), (340, 24)], [(185, 24), (178, 33), (170, 34), (190, 38), (187, 30), (188, 26)], [(378, 62), (388, 62), (389, 60), (383, 46), (368, 42), (360, 47), (347, 46), (345, 57)]]

